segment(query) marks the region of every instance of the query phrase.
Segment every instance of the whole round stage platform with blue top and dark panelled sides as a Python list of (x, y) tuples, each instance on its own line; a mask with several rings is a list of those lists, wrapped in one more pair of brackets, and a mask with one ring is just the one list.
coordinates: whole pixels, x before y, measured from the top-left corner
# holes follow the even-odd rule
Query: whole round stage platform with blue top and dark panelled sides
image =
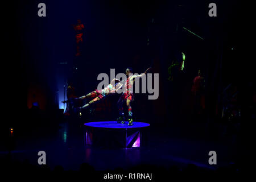
[(149, 123), (117, 121), (98, 121), (84, 123), (85, 144), (101, 147), (141, 147), (147, 143)]

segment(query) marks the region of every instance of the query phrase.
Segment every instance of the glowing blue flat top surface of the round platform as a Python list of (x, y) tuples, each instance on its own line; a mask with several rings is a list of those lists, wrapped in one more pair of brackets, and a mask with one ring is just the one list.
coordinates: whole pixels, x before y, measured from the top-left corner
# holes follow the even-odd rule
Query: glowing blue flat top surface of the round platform
[(143, 122), (133, 122), (132, 126), (128, 126), (128, 122), (125, 123), (117, 123), (117, 121), (97, 121), (97, 122), (89, 122), (84, 123), (85, 126), (90, 127), (102, 127), (102, 128), (110, 128), (110, 129), (134, 129), (138, 127), (147, 127), (150, 126), (148, 123)]

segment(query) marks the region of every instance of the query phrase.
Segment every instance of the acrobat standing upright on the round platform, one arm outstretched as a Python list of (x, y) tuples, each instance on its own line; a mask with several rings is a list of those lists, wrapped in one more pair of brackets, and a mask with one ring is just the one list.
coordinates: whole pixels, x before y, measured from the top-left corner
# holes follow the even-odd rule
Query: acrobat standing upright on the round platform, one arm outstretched
[(129, 76), (129, 74), (133, 73), (132, 68), (127, 68), (125, 71), (125, 75), (127, 77), (127, 80), (125, 82), (125, 89), (122, 93), (122, 95), (119, 97), (119, 100), (117, 102), (118, 110), (119, 110), (119, 118), (117, 119), (118, 123), (124, 123), (125, 120), (125, 113), (123, 113), (123, 104), (126, 103), (126, 106), (128, 107), (128, 121), (129, 126), (133, 125), (133, 112), (131, 111), (131, 102), (133, 102), (133, 84), (136, 77), (142, 77), (145, 76), (148, 71), (150, 71), (151, 68), (147, 68), (147, 70), (144, 73), (141, 73), (141, 75), (132, 75)]

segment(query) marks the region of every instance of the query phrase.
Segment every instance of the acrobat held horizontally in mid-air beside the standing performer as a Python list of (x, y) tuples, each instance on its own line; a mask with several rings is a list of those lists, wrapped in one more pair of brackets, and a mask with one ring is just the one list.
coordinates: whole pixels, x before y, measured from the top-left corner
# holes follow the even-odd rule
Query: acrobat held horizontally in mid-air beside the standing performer
[(88, 102), (88, 104), (85, 104), (84, 106), (78, 107), (78, 108), (79, 109), (85, 109), (86, 107), (93, 104), (94, 102), (100, 101), (102, 98), (108, 96), (110, 93), (115, 93), (121, 88), (122, 88), (122, 84), (121, 84), (120, 80), (114, 78), (110, 82), (110, 84), (108, 86), (106, 86), (104, 89), (102, 89), (102, 90), (97, 90), (96, 89), (93, 92), (88, 93), (86, 96), (82, 96), (82, 97), (77, 98), (77, 99), (82, 100), (82, 99), (85, 99), (85, 98), (95, 97), (92, 101)]

